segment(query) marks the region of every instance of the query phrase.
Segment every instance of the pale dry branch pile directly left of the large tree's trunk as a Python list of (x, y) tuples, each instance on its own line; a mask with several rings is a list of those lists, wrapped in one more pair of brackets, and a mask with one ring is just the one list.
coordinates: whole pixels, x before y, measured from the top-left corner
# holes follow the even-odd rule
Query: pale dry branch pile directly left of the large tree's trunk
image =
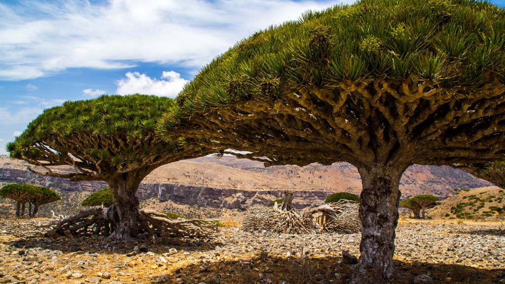
[(318, 224), (320, 232), (358, 233), (362, 226), (359, 209), (354, 201), (339, 200), (310, 209), (304, 215)]

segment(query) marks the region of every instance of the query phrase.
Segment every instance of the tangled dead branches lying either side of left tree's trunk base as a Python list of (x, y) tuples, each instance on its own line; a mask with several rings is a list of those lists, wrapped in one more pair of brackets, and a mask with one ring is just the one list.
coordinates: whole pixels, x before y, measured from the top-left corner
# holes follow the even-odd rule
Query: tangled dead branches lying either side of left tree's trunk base
[[(51, 222), (41, 225), (41, 227), (50, 228), (44, 234), (49, 238), (58, 238), (60, 235), (110, 237), (116, 227), (117, 213), (114, 207), (93, 207), (70, 217), (61, 215), (54, 215), (54, 217), (55, 219)], [(216, 220), (181, 218), (172, 220), (166, 214), (148, 209), (138, 211), (137, 221), (139, 236), (147, 236), (152, 240), (155, 238), (209, 238), (218, 230)]]

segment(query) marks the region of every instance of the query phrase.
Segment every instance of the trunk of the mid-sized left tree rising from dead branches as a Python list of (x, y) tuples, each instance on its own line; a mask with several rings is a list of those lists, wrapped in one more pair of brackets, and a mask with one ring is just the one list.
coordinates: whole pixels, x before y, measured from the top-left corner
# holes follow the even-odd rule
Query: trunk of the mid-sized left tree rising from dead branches
[(138, 185), (144, 176), (125, 173), (109, 181), (115, 216), (115, 230), (110, 239), (136, 241), (138, 221), (138, 199), (135, 196)]

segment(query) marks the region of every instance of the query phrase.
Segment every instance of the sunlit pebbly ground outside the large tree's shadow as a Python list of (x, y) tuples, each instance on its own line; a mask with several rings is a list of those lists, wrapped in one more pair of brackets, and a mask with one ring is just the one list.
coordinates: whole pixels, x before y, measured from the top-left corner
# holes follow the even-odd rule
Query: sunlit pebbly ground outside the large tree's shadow
[[(9, 228), (8, 231), (12, 231), (14, 226), (18, 226), (16, 221), (0, 218), (0, 230)], [(29, 226), (24, 226), (23, 230), (29, 230)], [(396, 236), (395, 258), (401, 261), (426, 263), (425, 272), (430, 275), (440, 269), (437, 263), (505, 269), (505, 246), (502, 245), (505, 243), (505, 235), (497, 233), (496, 226), (400, 225), (396, 229)], [(224, 267), (222, 272), (238, 273), (241, 269), (254, 269), (255, 262), (249, 260), (261, 251), (271, 255), (283, 256), (286, 253), (293, 257), (303, 255), (304, 259), (342, 257), (351, 260), (350, 263), (355, 263), (356, 257), (359, 257), (360, 239), (359, 234), (263, 235), (259, 232), (243, 232), (236, 227), (224, 227), (221, 233), (208, 243), (204, 240), (183, 240), (177, 241), (179, 243), (170, 243), (170, 249), (161, 244), (142, 247), (140, 243), (136, 249), (133, 248), (135, 254), (126, 257), (126, 252), (129, 252), (128, 254), (132, 252), (132, 246), (114, 242), (104, 244), (102, 240), (94, 238), (61, 237), (51, 242), (48, 242), (50, 241), (48, 239), (23, 241), (10, 234), (0, 234), (0, 255), (3, 256), (0, 258), (0, 283), (55, 282), (63, 276), (68, 278), (65, 281), (69, 283), (95, 282), (97, 279), (93, 277), (96, 274), (93, 273), (96, 272), (93, 271), (107, 271), (98, 273), (102, 279), (107, 280), (107, 283), (150, 282), (157, 281), (160, 275), (172, 271), (169, 283), (181, 281), (199, 283), (198, 280), (205, 280), (209, 284), (215, 284), (217, 282), (208, 278), (187, 279), (184, 276), (177, 276), (180, 273), (176, 272), (174, 267), (180, 267), (181, 264), (197, 265), (195, 271), (201, 270), (199, 273), (205, 276), (210, 273), (209, 267), (212, 267), (213, 263), (236, 261), (235, 267)], [(80, 254), (76, 254), (77, 252)], [(144, 273), (145, 276), (138, 276), (136, 272)], [(342, 279), (348, 277), (344, 273), (333, 272), (339, 271), (332, 270), (330, 274), (317, 275), (318, 281), (326, 283), (331, 282), (333, 277)], [(89, 276), (84, 276), (83, 273), (89, 273)], [(112, 279), (111, 273), (118, 278)], [(280, 279), (269, 274), (271, 272), (254, 273), (263, 275), (264, 283), (267, 283), (268, 279), (274, 279), (275, 284), (279, 283)], [(81, 275), (79, 278), (75, 277), (79, 274)], [(149, 274), (154, 277), (151, 278)], [(127, 277), (125, 275), (134, 276), (130, 280), (124, 280), (123, 278)], [(430, 281), (440, 280), (430, 275), (418, 275), (415, 281), (418, 284), (429, 284)], [(84, 279), (85, 277), (90, 278)], [(482, 281), (486, 280), (485, 275), (472, 274), (473, 279), (480, 279), (479, 277), (482, 277)], [(499, 279), (504, 277), (505, 273)], [(219, 277), (217, 279), (219, 280)], [(220, 281), (224, 283), (223, 279)]]

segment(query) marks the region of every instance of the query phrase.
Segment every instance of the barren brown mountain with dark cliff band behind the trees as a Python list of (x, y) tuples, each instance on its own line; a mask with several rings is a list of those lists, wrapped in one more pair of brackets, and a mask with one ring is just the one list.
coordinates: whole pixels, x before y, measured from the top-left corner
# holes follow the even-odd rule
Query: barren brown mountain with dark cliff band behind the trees
[[(86, 195), (107, 187), (102, 181), (71, 182), (67, 179), (38, 176), (26, 164), (0, 156), (0, 182), (32, 183), (58, 188), (62, 194)], [(60, 170), (68, 171), (62, 167)], [(400, 183), (403, 197), (433, 194), (445, 199), (455, 188), (473, 188), (490, 184), (450, 167), (414, 165), (407, 169)], [(162, 166), (140, 184), (141, 200), (157, 199), (212, 208), (243, 209), (251, 204), (267, 204), (282, 191), (294, 194), (294, 204), (301, 208), (317, 205), (334, 192), (361, 192), (357, 169), (346, 163), (305, 167), (274, 166), (265, 168), (256, 161), (225, 156), (220, 160), (204, 157)], [(85, 193), (85, 194), (84, 194)]]

